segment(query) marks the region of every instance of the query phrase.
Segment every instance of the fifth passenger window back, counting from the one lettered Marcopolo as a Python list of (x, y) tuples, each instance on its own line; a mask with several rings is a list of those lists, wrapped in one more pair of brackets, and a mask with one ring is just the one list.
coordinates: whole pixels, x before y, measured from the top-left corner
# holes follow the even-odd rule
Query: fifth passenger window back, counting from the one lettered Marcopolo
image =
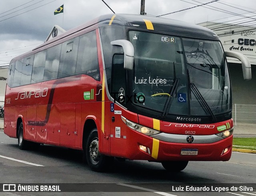
[(30, 84), (34, 55), (24, 58), (20, 85)]

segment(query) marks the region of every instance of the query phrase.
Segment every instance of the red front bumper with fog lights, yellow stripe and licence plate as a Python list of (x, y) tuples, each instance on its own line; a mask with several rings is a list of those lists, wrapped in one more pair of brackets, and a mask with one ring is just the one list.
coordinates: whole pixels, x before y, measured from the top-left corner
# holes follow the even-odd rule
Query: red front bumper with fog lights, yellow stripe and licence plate
[[(212, 143), (174, 143), (161, 141), (134, 131), (131, 133), (127, 153), (127, 158), (130, 160), (227, 161), (232, 152), (232, 135), (218, 141), (213, 140)], [(191, 153), (185, 151), (191, 151)]]

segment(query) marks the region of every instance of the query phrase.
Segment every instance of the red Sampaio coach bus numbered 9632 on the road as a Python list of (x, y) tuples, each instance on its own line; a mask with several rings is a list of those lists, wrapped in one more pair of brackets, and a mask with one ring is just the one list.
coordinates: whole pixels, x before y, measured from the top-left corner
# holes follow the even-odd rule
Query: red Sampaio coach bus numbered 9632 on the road
[(218, 36), (206, 28), (141, 15), (104, 15), (10, 62), (4, 133), (18, 147), (83, 150), (92, 170), (114, 157), (161, 162), (226, 161), (232, 91)]

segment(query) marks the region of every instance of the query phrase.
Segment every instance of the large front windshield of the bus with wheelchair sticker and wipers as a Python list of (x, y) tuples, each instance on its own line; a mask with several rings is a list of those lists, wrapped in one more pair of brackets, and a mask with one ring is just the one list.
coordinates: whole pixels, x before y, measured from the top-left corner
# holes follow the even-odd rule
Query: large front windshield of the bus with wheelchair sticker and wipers
[(134, 105), (163, 115), (214, 117), (231, 110), (220, 42), (138, 31), (130, 31), (129, 37), (135, 52)]

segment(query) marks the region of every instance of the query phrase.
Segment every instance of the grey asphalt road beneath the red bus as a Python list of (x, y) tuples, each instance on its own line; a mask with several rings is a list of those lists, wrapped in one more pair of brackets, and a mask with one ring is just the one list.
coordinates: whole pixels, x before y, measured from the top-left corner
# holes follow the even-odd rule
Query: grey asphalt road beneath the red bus
[[(10, 160), (14, 158), (16, 160)], [(18, 161), (26, 162), (18, 162)], [(33, 165), (34, 164), (34, 165)], [(185, 170), (169, 173), (160, 163), (147, 161), (115, 160), (112, 170), (106, 173), (91, 171), (82, 162), (82, 152), (67, 148), (40, 146), (34, 150), (19, 150), (17, 139), (0, 131), (0, 183), (122, 183), (120, 190), (134, 192), (104, 192), (100, 185), (98, 192), (80, 193), (0, 193), (0, 195), (120, 195), (123, 196), (256, 196), (256, 190), (240, 192), (169, 192), (162, 183), (256, 183), (256, 154), (233, 152), (228, 162), (189, 162)], [(127, 187), (131, 183), (133, 187)], [(148, 184), (151, 183), (151, 184)], [(161, 183), (161, 184), (158, 184)], [(95, 184), (94, 184), (95, 186)], [(113, 186), (113, 187), (116, 187)], [(128, 188), (128, 189), (127, 189)], [(150, 192), (139, 192), (143, 188)], [(147, 190), (148, 190), (147, 189)], [(137, 192), (138, 191), (138, 192)], [(158, 192), (158, 193), (154, 193)], [(159, 193), (160, 192), (160, 193)]]

